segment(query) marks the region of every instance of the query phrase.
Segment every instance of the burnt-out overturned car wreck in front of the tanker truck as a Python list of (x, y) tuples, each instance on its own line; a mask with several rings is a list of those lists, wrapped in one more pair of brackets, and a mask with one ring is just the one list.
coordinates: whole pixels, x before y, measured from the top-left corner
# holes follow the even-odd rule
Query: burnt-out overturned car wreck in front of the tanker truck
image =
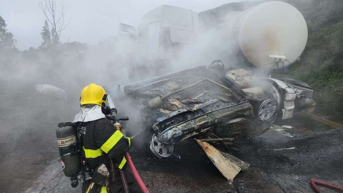
[(312, 96), (319, 94), (307, 86), (255, 78), (251, 71), (218, 64), (124, 87), (129, 103), (144, 115), (142, 134), (153, 155), (170, 157), (175, 144), (190, 138), (239, 144), (267, 131), (278, 116), (292, 117), (297, 98), (305, 101), (302, 109), (312, 107)]

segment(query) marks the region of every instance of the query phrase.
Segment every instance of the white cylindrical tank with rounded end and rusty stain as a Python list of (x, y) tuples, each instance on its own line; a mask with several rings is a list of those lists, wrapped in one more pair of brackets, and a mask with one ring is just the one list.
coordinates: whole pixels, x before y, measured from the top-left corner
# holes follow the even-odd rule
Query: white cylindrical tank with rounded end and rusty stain
[[(225, 28), (234, 41), (234, 52), (243, 54), (256, 67), (272, 69), (294, 63), (303, 53), (308, 37), (304, 16), (281, 1), (262, 3), (244, 12), (233, 11)], [(281, 60), (284, 62), (278, 64)]]

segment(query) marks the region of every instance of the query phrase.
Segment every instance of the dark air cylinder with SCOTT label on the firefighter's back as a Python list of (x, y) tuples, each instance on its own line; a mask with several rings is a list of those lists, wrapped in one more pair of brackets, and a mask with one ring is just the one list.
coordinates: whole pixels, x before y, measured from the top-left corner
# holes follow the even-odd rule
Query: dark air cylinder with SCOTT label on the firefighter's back
[(64, 175), (77, 177), (81, 171), (79, 144), (73, 123), (59, 123), (56, 130), (58, 150)]

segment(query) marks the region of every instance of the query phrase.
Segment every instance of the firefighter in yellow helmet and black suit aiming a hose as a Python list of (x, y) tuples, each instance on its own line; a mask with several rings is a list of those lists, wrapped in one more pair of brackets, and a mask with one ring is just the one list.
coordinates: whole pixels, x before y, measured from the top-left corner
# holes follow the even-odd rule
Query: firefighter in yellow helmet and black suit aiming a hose
[(83, 192), (141, 192), (125, 164), (124, 155), (130, 148), (130, 138), (106, 118), (106, 102), (106, 91), (94, 83), (89, 84), (81, 92), (81, 112), (74, 118), (85, 164), (93, 171), (92, 179), (83, 184)]

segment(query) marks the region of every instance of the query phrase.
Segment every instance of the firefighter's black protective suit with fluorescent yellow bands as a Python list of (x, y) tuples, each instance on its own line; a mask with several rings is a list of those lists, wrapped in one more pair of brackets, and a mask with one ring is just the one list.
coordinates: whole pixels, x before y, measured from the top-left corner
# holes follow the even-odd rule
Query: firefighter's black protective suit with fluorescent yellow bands
[[(115, 171), (111, 172), (114, 172), (115, 175), (113, 175), (114, 180), (110, 180), (108, 186), (109, 192), (124, 192), (119, 169), (121, 169), (125, 175), (124, 178), (127, 181), (130, 192), (141, 192), (134, 182), (133, 175), (126, 164), (126, 159), (124, 157), (125, 153), (130, 148), (130, 138), (125, 137), (116, 129), (111, 121), (106, 118), (90, 122), (77, 122), (75, 124), (77, 126), (77, 132), (81, 135), (82, 149), (86, 161), (94, 171), (97, 169), (100, 162), (104, 163), (108, 171), (110, 171), (110, 159), (113, 159)], [(102, 186), (99, 184), (95, 185), (97, 187), (92, 188), (92, 191), (90, 192), (103, 193), (103, 191), (101, 191)]]

